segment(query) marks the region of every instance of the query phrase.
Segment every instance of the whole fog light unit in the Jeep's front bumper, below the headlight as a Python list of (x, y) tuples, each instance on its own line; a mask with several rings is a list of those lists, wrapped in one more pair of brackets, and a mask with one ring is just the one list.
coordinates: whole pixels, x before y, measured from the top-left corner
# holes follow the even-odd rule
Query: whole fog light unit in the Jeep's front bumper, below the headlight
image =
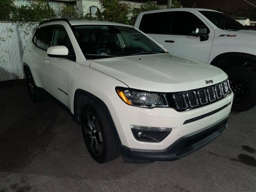
[(171, 128), (138, 125), (131, 125), (131, 129), (136, 140), (144, 142), (161, 142), (172, 131)]

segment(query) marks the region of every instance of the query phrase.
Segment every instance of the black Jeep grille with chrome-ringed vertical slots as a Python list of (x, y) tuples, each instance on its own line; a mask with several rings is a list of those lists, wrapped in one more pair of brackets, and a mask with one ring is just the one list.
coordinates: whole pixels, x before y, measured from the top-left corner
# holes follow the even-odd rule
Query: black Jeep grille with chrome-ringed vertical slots
[(212, 86), (173, 93), (172, 98), (177, 110), (188, 110), (216, 102), (230, 92), (229, 82), (225, 80)]

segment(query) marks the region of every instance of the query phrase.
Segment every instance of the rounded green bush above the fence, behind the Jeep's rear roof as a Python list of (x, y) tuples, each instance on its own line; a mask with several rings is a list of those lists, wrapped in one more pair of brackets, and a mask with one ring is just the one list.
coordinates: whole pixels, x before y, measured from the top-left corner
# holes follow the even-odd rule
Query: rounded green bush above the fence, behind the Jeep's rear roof
[(54, 10), (45, 0), (30, 2), (29, 5), (22, 5), (16, 8), (13, 20), (24, 22), (42, 22), (56, 18)]

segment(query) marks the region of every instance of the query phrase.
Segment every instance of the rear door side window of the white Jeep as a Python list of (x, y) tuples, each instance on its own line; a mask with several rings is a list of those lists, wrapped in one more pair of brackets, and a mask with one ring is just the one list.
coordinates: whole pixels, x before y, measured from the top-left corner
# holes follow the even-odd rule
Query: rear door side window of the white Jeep
[(52, 31), (51, 26), (38, 28), (32, 39), (34, 44), (39, 48), (47, 50), (50, 46), (49, 39), (50, 39), (51, 31)]

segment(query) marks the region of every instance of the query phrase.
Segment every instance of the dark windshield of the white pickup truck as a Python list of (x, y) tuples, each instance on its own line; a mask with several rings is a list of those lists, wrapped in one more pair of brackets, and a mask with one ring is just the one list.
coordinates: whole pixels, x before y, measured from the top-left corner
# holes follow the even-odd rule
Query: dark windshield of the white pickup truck
[(214, 25), (223, 30), (242, 30), (247, 29), (245, 26), (232, 19), (230, 16), (227, 16), (220, 12), (215, 11), (199, 11), (202, 13), (208, 20), (210, 20)]

